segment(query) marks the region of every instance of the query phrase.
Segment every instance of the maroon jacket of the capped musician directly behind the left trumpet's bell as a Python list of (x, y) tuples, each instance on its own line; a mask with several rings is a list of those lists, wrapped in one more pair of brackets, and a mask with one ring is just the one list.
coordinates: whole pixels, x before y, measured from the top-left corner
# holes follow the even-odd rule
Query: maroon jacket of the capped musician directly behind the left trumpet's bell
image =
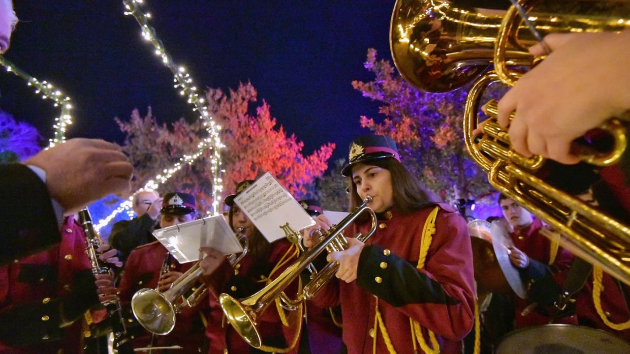
[[(130, 302), (135, 292), (141, 288), (156, 288), (159, 273), (166, 258), (166, 248), (154, 241), (140, 246), (131, 251), (125, 272), (120, 280), (120, 302), (124, 307), (127, 327), (134, 335), (133, 346), (140, 348), (148, 346), (151, 342), (151, 333), (147, 332), (135, 320), (130, 312)], [(185, 273), (194, 262), (180, 265), (177, 261), (171, 261), (171, 271)], [(195, 308), (183, 307), (177, 315), (175, 328), (166, 336), (155, 336), (154, 346), (180, 345), (184, 349), (177, 353), (199, 353), (203, 347), (203, 321), (207, 316), (207, 300), (202, 300)], [(202, 319), (202, 316), (204, 317)], [(131, 321), (130, 321), (131, 320)]]

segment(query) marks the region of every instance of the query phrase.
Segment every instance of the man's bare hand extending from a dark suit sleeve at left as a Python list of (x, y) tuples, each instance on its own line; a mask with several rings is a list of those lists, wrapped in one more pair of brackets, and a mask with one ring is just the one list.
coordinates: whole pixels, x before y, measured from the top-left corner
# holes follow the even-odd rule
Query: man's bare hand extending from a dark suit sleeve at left
[(70, 139), (25, 162), (46, 171), (50, 197), (74, 214), (110, 194), (129, 193), (133, 166), (120, 146), (98, 139)]

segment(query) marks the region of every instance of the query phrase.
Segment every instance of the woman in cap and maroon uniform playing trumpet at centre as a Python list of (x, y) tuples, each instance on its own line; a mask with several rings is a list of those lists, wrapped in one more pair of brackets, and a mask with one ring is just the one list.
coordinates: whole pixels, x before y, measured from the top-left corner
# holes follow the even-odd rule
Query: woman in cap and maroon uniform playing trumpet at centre
[(341, 304), (348, 354), (461, 353), (474, 322), (466, 222), (427, 199), (389, 137), (355, 139), (341, 173), (352, 177), (353, 206), (370, 195), (379, 219), (365, 244), (352, 236), (367, 234), (370, 221), (347, 232), (350, 248), (328, 255), (340, 262), (339, 279), (314, 298), (321, 307)]

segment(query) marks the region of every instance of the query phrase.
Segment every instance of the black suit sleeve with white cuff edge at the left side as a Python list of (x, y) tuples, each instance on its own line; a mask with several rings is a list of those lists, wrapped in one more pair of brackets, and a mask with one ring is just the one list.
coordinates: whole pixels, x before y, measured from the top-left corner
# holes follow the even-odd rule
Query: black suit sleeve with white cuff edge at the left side
[(23, 164), (0, 165), (0, 265), (61, 241), (45, 183)]

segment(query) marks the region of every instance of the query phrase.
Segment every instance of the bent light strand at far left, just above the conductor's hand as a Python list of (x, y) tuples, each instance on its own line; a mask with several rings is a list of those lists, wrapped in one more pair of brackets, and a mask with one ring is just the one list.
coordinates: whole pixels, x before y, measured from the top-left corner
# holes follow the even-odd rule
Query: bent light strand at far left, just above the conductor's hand
[(55, 123), (52, 126), (54, 135), (52, 139), (49, 139), (48, 147), (53, 147), (60, 142), (64, 142), (66, 140), (66, 128), (68, 125), (72, 124), (72, 105), (70, 98), (47, 81), (39, 81), (37, 78), (26, 74), (25, 71), (2, 56), (0, 56), (0, 65), (4, 66), (6, 71), (13, 72), (16, 76), (24, 79), (26, 85), (33, 86), (36, 94), (42, 94), (43, 100), (52, 100), (54, 101), (53, 105), (55, 107), (61, 108), (61, 114), (59, 117), (55, 118)]

